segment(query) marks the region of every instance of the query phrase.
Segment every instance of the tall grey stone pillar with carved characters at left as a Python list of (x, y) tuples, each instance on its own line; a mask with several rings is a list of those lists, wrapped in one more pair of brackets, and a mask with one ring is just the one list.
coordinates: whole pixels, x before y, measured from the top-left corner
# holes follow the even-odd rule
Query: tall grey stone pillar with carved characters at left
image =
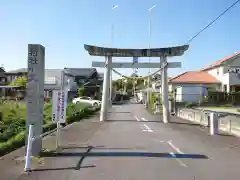
[[(28, 69), (27, 69), (27, 123), (34, 125), (34, 135), (42, 134), (43, 106), (44, 106), (44, 67), (45, 48), (39, 44), (28, 45)], [(26, 136), (27, 142), (27, 136)], [(37, 155), (42, 149), (41, 139), (33, 142), (32, 154)]]

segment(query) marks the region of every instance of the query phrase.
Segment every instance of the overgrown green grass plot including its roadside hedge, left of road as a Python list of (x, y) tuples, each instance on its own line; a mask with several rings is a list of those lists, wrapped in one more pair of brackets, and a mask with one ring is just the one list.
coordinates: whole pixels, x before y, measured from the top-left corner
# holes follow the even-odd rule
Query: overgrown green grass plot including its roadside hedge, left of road
[[(87, 104), (68, 104), (67, 123), (80, 121), (98, 111), (99, 108)], [(0, 156), (5, 155), (25, 144), (26, 105), (22, 103), (4, 103), (0, 105)], [(56, 128), (51, 120), (52, 106), (44, 105), (43, 132)]]

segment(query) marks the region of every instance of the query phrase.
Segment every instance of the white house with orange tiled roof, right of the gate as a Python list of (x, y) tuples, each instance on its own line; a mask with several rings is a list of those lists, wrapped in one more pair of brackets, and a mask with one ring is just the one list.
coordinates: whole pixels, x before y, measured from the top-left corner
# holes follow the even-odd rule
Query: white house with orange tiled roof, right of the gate
[[(238, 72), (238, 73), (237, 73)], [(208, 89), (240, 91), (240, 53), (220, 59), (199, 71), (184, 72), (169, 81), (179, 101), (198, 101)]]

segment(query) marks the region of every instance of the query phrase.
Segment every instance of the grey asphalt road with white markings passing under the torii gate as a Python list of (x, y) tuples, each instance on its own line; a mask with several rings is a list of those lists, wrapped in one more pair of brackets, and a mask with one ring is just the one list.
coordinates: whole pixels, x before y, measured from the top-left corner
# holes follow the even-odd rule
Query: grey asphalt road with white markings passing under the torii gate
[(113, 106), (98, 127), (84, 142), (76, 127), (70, 130), (75, 146), (46, 157), (42, 170), (19, 179), (239, 180), (238, 138), (209, 136), (207, 129), (175, 118), (163, 124), (140, 104)]

